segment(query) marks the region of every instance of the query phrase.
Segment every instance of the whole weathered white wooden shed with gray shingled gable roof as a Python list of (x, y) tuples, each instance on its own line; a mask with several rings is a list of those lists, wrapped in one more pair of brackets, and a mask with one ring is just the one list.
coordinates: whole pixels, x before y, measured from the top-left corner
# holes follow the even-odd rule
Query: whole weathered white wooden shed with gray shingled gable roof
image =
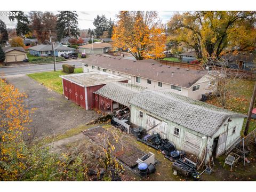
[(205, 163), (240, 139), (246, 117), (167, 90), (135, 94), (130, 111), (133, 126), (142, 127), (149, 134), (159, 133), (178, 150), (194, 154)]

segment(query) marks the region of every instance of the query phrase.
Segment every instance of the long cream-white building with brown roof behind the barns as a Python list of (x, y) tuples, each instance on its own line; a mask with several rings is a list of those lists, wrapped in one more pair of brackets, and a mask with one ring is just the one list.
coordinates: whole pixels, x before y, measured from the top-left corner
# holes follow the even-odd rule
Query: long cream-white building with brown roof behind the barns
[(162, 65), (153, 59), (133, 61), (106, 55), (94, 55), (83, 61), (84, 73), (105, 71), (130, 78), (129, 83), (151, 90), (170, 90), (192, 99), (209, 93), (208, 71)]

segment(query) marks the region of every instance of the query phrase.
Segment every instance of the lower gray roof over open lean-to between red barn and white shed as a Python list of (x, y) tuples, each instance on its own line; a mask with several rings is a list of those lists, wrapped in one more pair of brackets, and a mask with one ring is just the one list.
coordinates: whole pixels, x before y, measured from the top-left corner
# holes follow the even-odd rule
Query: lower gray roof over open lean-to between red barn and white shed
[(95, 93), (129, 107), (129, 101), (135, 94), (142, 92), (145, 89), (145, 87), (130, 83), (111, 82), (95, 91)]

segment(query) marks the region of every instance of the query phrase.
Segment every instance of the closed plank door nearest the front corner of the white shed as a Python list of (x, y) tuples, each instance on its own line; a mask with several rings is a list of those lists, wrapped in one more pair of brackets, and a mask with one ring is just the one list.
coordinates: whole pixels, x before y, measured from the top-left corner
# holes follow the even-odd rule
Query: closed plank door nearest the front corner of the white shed
[(201, 137), (194, 135), (192, 133), (186, 132), (184, 138), (183, 149), (189, 153), (198, 155), (201, 145)]

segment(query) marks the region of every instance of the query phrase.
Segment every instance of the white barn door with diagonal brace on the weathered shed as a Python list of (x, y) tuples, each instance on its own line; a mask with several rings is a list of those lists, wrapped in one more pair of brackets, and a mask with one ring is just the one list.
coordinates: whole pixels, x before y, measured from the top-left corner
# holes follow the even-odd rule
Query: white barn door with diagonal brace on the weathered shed
[(159, 133), (161, 138), (167, 138), (167, 123), (162, 122), (159, 119), (156, 119), (152, 116), (147, 115), (145, 129), (148, 131), (148, 134)]

